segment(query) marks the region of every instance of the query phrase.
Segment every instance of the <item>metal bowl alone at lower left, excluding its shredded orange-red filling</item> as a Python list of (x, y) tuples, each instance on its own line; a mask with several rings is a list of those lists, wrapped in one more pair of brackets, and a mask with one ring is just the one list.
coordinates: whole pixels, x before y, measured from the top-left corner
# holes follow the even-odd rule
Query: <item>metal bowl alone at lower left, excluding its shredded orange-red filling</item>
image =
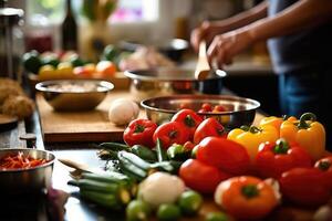
[(0, 192), (9, 194), (38, 192), (51, 187), (55, 156), (40, 149), (4, 148), (0, 149), (0, 159), (18, 152), (34, 159), (46, 159), (48, 162), (29, 169), (0, 170)]

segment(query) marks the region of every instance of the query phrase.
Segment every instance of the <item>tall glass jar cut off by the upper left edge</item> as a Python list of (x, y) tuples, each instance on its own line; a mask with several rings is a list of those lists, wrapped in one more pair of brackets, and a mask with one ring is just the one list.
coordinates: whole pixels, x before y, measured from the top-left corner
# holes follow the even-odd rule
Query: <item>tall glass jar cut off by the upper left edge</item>
[(23, 10), (13, 8), (0, 9), (0, 76), (21, 81), (19, 70), (23, 54)]

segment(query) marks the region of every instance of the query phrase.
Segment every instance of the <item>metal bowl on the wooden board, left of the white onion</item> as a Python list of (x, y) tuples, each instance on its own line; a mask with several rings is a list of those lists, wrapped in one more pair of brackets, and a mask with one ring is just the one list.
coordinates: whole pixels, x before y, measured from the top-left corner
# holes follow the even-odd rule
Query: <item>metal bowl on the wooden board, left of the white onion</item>
[[(62, 85), (93, 85), (93, 90), (69, 91), (54, 90)], [(35, 90), (41, 92), (45, 101), (55, 109), (61, 112), (83, 112), (95, 108), (113, 90), (114, 85), (100, 80), (58, 80), (41, 82)]]

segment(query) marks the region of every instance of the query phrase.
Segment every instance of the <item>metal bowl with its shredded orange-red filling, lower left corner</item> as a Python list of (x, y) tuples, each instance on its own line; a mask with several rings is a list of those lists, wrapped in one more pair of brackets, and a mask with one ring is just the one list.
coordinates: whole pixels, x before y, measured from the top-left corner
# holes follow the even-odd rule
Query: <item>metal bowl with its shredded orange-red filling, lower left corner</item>
[(55, 156), (46, 150), (0, 149), (0, 192), (42, 192), (51, 187)]

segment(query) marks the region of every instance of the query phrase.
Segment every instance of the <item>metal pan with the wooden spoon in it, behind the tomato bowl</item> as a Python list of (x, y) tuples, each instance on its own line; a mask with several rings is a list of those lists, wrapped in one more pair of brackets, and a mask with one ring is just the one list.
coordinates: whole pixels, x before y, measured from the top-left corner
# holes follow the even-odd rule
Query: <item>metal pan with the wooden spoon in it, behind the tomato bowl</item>
[(131, 93), (137, 102), (174, 94), (219, 94), (221, 78), (226, 76), (224, 71), (218, 70), (211, 71), (205, 81), (198, 81), (194, 70), (177, 67), (126, 71), (124, 74), (132, 80)]

